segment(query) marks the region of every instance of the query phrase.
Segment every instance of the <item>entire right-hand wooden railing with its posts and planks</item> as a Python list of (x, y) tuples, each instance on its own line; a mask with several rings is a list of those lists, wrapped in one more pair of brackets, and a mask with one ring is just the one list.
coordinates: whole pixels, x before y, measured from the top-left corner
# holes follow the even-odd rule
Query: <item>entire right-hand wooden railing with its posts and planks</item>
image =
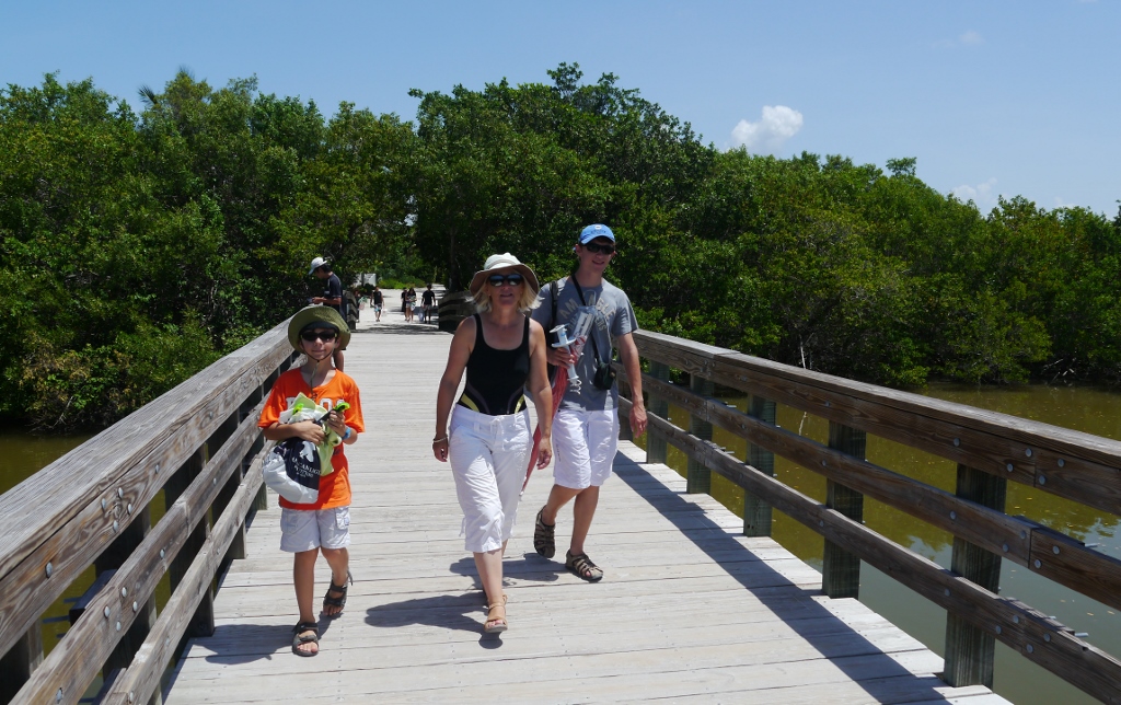
[[(1111, 513), (1121, 513), (1121, 443), (928, 397), (853, 382), (691, 341), (638, 332), (649, 362), (650, 462), (666, 443), (689, 458), (689, 492), (707, 492), (715, 472), (745, 491), (744, 534), (770, 532), (778, 509), (825, 538), (822, 586), (856, 596), (860, 562), (947, 610), (944, 678), (992, 685), (995, 641), (1106, 703), (1121, 703), (1121, 662), (1073, 630), (995, 594), (1002, 559), (1121, 609), (1121, 562), (1025, 517), (1004, 513), (1007, 482), (1020, 482)], [(626, 371), (617, 363), (621, 379)], [(670, 368), (689, 388), (668, 381)], [(712, 398), (713, 383), (751, 396), (749, 412)], [(828, 446), (775, 425), (776, 402), (824, 417)], [(667, 405), (686, 409), (691, 428), (670, 424)], [(622, 400), (623, 410), (629, 401)], [(622, 416), (622, 415), (621, 415)], [(745, 438), (744, 463), (711, 442), (712, 427)], [(949, 493), (864, 460), (867, 434), (958, 464)], [(821, 473), (825, 503), (779, 482), (773, 455)], [(952, 568), (868, 529), (863, 497), (954, 536)]]

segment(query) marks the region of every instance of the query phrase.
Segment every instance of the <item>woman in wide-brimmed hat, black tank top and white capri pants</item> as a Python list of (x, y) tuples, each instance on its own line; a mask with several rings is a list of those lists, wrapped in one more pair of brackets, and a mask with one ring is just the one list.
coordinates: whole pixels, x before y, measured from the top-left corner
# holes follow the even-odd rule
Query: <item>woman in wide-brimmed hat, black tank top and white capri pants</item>
[[(534, 443), (525, 391), (532, 397), (541, 428), (537, 467), (553, 457), (545, 331), (527, 315), (537, 305), (538, 288), (534, 271), (509, 252), (487, 258), (471, 279), (479, 313), (456, 328), (436, 397), (432, 448), (436, 460), (452, 463), (465, 548), (474, 554), (487, 592), (487, 632), (509, 625), (502, 556)], [(455, 400), (464, 370), (467, 381)]]

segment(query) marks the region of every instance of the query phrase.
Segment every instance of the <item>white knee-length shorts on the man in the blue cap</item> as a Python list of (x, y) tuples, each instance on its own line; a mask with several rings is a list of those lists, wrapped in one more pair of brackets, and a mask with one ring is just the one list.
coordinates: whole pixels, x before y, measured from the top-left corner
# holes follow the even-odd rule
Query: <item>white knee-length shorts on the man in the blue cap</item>
[(560, 409), (553, 420), (553, 480), (569, 490), (600, 486), (619, 448), (619, 415)]

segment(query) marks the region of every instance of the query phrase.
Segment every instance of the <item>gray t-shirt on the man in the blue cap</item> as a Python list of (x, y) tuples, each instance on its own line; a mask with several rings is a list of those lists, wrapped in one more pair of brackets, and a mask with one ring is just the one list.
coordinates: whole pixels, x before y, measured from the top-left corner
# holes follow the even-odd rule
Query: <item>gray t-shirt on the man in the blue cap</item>
[[(575, 318), (583, 307), (580, 294), (568, 277), (557, 282), (557, 319), (550, 321), (553, 316), (553, 294), (548, 285), (543, 286), (538, 300), (540, 306), (534, 309), (534, 321), (541, 324), (546, 334), (556, 325), (565, 324), (572, 333)], [(608, 280), (597, 287), (583, 287), (584, 300), (589, 306), (595, 308), (594, 325), (592, 336), (599, 349), (600, 360), (611, 359), (611, 349), (614, 340), (620, 335), (627, 335), (638, 330), (638, 319), (634, 317), (634, 309), (631, 308), (630, 299), (622, 289)], [(595, 375), (595, 350), (592, 341), (584, 344), (583, 354), (576, 362), (576, 374), (581, 380), (581, 390), (577, 393), (569, 384), (565, 391), (564, 399), (560, 400), (562, 409), (581, 409), (584, 411), (599, 411), (615, 409), (619, 407), (619, 384), (613, 384), (610, 390), (596, 389), (592, 384)]]

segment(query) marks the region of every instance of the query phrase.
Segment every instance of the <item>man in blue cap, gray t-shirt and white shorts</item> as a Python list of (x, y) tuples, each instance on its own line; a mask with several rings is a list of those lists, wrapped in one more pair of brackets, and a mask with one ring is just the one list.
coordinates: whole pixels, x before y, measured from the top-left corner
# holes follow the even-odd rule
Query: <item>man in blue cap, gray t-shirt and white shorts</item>
[(611, 350), (619, 356), (631, 382), (630, 425), (636, 436), (646, 433), (646, 407), (642, 405), (642, 379), (638, 349), (631, 336), (638, 330), (634, 309), (622, 289), (603, 278), (615, 253), (615, 236), (606, 225), (589, 225), (576, 242), (578, 263), (572, 276), (557, 281), (556, 321), (553, 321), (552, 286), (543, 286), (540, 306), (532, 312), (546, 331), (564, 324), (569, 333), (590, 324), (589, 340), (577, 358), (563, 350), (549, 352), (549, 363), (576, 369), (578, 386), (569, 382), (553, 421), (553, 490), (548, 502), (537, 512), (534, 549), (552, 558), (556, 551), (554, 532), (557, 512), (573, 503), (572, 544), (565, 567), (585, 581), (603, 577), (584, 551), (584, 540), (600, 499), (600, 486), (611, 476), (611, 464), (619, 445), (619, 388), (599, 389), (596, 368), (611, 361)]

